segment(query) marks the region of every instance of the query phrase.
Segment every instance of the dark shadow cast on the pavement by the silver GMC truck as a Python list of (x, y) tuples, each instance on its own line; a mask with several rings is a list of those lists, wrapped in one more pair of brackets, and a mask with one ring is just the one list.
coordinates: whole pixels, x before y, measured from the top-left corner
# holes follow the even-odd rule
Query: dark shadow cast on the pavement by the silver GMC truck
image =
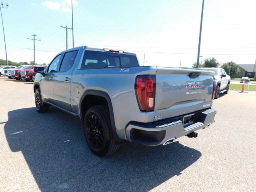
[(8, 112), (12, 152), (21, 151), (42, 191), (148, 191), (196, 162), (201, 153), (174, 142), (145, 147), (126, 142), (108, 158), (93, 155), (82, 122), (56, 108)]

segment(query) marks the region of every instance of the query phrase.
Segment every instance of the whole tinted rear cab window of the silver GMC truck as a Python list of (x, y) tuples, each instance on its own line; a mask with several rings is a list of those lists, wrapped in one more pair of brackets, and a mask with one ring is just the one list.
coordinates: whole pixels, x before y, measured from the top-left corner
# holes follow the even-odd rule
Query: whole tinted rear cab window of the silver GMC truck
[(102, 69), (138, 66), (138, 60), (135, 55), (87, 50), (85, 51), (80, 69)]

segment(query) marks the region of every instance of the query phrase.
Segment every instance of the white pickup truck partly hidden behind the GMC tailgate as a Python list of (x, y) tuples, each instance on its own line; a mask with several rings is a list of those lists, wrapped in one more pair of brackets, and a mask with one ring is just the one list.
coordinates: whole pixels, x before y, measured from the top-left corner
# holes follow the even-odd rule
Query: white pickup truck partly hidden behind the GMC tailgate
[(214, 80), (216, 82), (216, 92), (214, 94), (214, 99), (218, 99), (220, 93), (228, 94), (230, 76), (227, 75), (224, 69), (222, 68), (200, 68), (201, 70), (210, 70), (214, 71)]

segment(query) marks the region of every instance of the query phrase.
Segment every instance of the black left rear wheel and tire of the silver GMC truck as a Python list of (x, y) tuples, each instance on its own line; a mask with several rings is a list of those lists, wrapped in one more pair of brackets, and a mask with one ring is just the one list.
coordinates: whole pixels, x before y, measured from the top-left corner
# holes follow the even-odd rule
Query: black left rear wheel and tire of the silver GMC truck
[(108, 156), (118, 150), (112, 133), (109, 110), (104, 105), (92, 106), (84, 116), (84, 136), (97, 156)]

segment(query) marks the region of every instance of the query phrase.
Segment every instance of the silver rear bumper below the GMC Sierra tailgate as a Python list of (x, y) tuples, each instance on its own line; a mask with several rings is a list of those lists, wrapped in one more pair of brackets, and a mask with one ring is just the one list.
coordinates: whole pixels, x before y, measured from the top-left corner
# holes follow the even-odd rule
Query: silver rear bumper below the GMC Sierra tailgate
[(184, 127), (182, 116), (151, 123), (132, 122), (126, 128), (127, 140), (146, 146), (157, 146), (172, 142), (196, 130), (206, 128), (214, 122), (215, 109), (195, 112), (195, 123)]

